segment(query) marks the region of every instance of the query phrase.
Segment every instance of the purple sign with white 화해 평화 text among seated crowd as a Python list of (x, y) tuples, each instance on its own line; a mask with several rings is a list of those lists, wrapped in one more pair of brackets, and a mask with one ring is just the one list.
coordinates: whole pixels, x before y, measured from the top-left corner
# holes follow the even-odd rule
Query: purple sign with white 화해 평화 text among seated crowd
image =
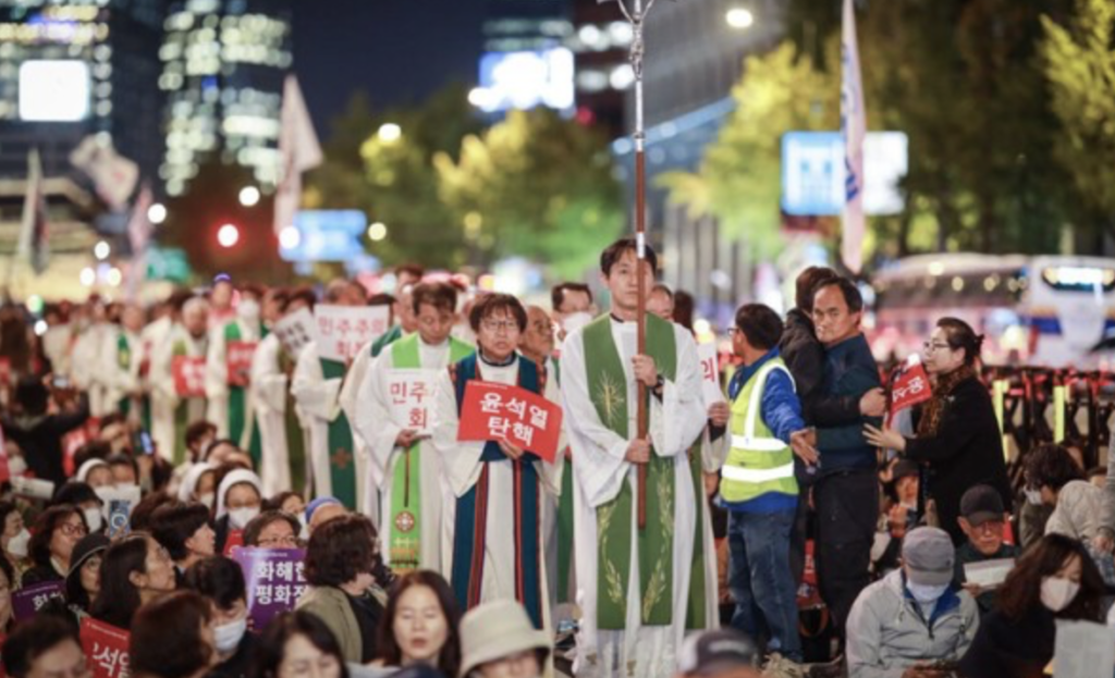
[(233, 554), (248, 584), (248, 614), (251, 628), (262, 630), (282, 612), (294, 609), (306, 593), (302, 549), (240, 548)]

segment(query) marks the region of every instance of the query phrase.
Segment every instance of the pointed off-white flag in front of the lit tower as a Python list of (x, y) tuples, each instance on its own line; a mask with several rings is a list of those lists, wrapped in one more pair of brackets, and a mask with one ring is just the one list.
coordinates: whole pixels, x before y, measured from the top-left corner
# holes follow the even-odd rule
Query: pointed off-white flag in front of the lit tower
[(279, 187), (275, 191), (274, 232), (294, 223), (302, 200), (302, 173), (321, 164), (321, 145), (306, 108), (302, 90), (293, 75), (287, 76), (282, 91), (279, 132)]

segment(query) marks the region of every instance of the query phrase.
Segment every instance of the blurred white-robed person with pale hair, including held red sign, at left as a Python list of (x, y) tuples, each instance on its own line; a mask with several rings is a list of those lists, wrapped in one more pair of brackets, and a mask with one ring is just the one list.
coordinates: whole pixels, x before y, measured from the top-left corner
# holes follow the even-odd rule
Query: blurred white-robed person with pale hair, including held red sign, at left
[(153, 349), (152, 435), (175, 465), (186, 458), (186, 426), (205, 418), (207, 318), (209, 302), (191, 297), (166, 339)]

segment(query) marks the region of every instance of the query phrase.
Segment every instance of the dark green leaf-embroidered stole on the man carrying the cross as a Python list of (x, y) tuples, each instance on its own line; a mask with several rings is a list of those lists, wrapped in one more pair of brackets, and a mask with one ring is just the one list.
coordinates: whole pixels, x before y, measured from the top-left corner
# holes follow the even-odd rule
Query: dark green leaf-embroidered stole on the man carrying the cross
[[(602, 316), (584, 329), (584, 367), (589, 396), (600, 422), (624, 439), (628, 430), (627, 375), (612, 339), (611, 318)], [(669, 380), (677, 371), (673, 326), (647, 316), (647, 353)], [(648, 399), (650, 394), (648, 389)], [(649, 403), (648, 403), (649, 408)], [(648, 413), (649, 414), (649, 413)], [(673, 464), (653, 452), (647, 464), (647, 525), (638, 531), (640, 619), (643, 626), (672, 623), (673, 598)], [(627, 599), (631, 565), (631, 521), (634, 491), (624, 480), (619, 495), (597, 508), (597, 626), (627, 628)]]

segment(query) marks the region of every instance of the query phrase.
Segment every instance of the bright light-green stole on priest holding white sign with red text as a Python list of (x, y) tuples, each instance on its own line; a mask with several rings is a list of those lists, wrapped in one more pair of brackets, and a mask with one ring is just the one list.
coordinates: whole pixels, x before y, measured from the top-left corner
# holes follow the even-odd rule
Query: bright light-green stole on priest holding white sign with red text
[[(421, 369), (419, 338), (415, 332), (387, 348), (396, 369)], [(449, 338), (449, 365), (476, 351), (455, 337)], [(429, 397), (433, 397), (430, 394)], [(397, 573), (417, 570), (421, 563), (421, 443), (415, 443), (395, 463), (391, 474), (391, 515), (388, 549), (391, 570)], [(437, 487), (432, 487), (437, 492)], [(417, 535), (417, 536), (411, 536)]]

